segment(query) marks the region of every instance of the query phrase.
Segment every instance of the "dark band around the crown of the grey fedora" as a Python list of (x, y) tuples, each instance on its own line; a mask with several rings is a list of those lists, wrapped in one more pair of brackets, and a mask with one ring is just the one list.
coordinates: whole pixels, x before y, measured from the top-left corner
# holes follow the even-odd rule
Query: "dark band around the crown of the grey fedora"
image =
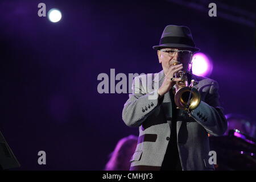
[(180, 36), (166, 36), (160, 39), (159, 45), (161, 44), (187, 44), (188, 46), (195, 47), (193, 40), (188, 38), (183, 38)]

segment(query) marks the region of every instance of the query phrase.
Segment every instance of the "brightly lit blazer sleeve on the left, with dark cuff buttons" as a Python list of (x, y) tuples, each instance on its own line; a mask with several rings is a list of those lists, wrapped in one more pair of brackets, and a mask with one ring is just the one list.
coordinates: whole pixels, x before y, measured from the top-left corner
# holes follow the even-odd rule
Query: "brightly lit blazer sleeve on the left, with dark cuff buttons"
[(135, 77), (131, 88), (133, 93), (129, 94), (129, 99), (123, 106), (122, 119), (130, 127), (141, 126), (148, 115), (163, 102), (163, 97), (159, 97), (158, 89), (146, 93), (142, 85), (141, 77)]

